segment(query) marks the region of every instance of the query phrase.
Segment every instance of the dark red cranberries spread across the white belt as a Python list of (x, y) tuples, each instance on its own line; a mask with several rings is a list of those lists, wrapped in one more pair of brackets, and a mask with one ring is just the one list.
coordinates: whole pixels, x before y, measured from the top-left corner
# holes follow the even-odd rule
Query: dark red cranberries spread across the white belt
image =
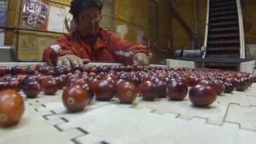
[[(217, 95), (232, 93), (235, 89), (244, 91), (254, 82), (256, 77), (246, 72), (207, 68), (117, 65), (79, 68), (77, 65), (51, 67), (43, 64), (0, 67), (0, 125), (15, 124), (20, 120), (24, 107), (19, 100), (20, 89), (27, 98), (37, 98), (41, 91), (54, 96), (58, 89), (64, 89), (64, 107), (77, 112), (89, 105), (93, 98), (109, 101), (117, 97), (121, 103), (130, 104), (138, 95), (146, 101), (156, 98), (180, 101), (188, 95), (193, 105), (207, 107), (214, 103)], [(11, 105), (7, 97), (12, 98), (15, 105)], [(15, 118), (8, 117), (6, 110), (12, 109), (16, 109), (16, 112), (10, 111), (15, 113)], [(12, 120), (11, 123), (7, 123), (8, 120)]]

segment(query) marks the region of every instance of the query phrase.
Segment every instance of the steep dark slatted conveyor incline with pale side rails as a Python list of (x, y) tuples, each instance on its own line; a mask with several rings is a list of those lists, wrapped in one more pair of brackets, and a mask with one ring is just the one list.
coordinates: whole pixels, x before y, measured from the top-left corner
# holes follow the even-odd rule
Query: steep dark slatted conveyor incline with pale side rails
[(208, 0), (207, 13), (204, 58), (244, 59), (245, 40), (240, 0)]

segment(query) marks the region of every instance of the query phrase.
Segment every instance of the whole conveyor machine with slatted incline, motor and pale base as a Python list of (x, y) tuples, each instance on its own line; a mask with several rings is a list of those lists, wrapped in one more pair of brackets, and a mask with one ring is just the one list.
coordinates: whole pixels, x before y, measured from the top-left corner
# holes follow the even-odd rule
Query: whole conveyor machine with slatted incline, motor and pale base
[[(245, 59), (245, 36), (240, 0), (208, 0), (207, 3), (203, 50), (193, 50), (198, 49), (196, 44), (199, 38), (194, 36), (191, 42), (192, 50), (177, 50), (175, 58), (180, 61), (179, 64), (189, 61), (189, 63), (197, 63), (196, 67), (253, 73), (255, 60)], [(172, 60), (169, 59), (170, 61)], [(178, 63), (175, 60), (172, 62)]]

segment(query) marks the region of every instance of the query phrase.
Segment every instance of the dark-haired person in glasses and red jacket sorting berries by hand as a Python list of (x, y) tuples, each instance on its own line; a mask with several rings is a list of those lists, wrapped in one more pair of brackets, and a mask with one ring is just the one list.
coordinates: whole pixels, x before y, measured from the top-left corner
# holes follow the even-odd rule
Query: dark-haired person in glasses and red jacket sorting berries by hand
[(89, 62), (148, 65), (152, 53), (147, 46), (126, 41), (99, 27), (102, 7), (101, 0), (73, 0), (70, 13), (76, 28), (47, 47), (42, 59), (54, 65), (82, 66)]

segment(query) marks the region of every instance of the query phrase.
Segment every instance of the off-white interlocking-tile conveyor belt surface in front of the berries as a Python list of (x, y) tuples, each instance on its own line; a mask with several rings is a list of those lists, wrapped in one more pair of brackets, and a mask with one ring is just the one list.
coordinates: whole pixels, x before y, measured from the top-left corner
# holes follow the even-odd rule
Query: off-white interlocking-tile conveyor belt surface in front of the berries
[[(256, 85), (246, 92), (224, 94), (211, 107), (192, 107), (167, 98), (135, 105), (94, 101), (85, 111), (71, 114), (55, 96), (25, 98), (20, 124), (0, 129), (1, 144), (254, 144)], [(22, 93), (22, 92), (21, 92)], [(204, 136), (202, 137), (203, 133)], [(186, 137), (186, 138), (184, 138)], [(236, 142), (234, 142), (236, 141)]]

